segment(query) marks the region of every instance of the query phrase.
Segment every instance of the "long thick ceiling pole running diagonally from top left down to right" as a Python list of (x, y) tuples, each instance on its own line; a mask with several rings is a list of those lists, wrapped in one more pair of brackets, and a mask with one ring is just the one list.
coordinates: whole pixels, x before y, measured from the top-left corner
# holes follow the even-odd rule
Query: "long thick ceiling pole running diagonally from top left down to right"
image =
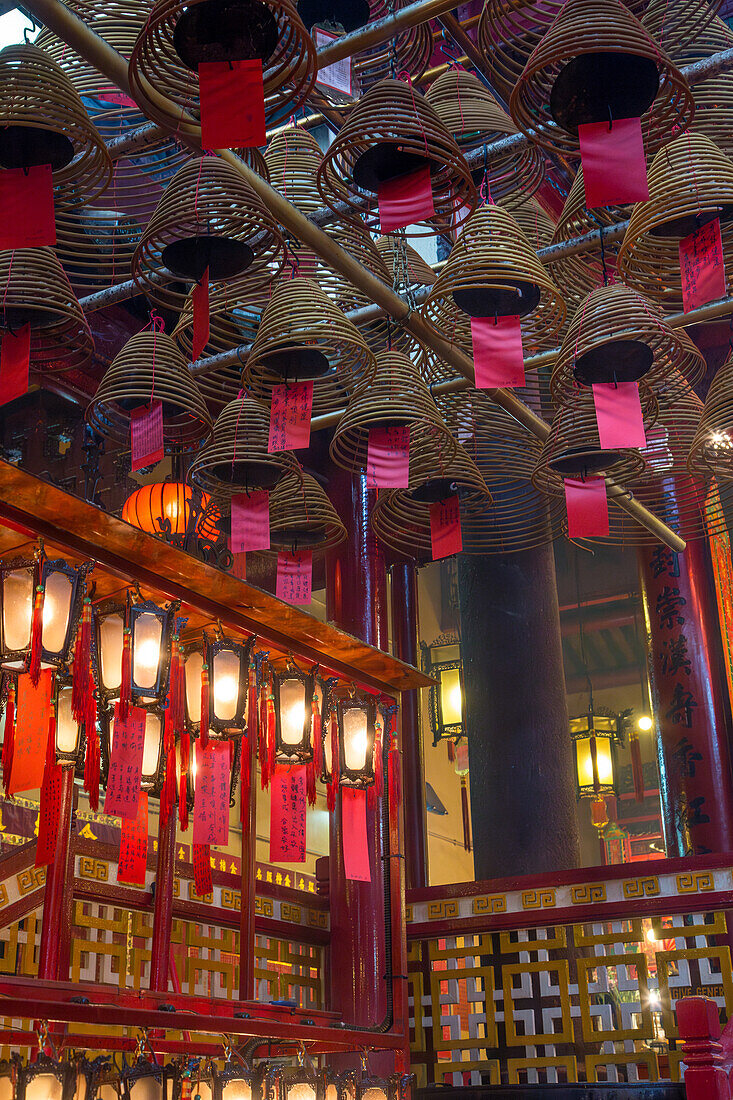
[[(440, 4), (427, 2), (425, 9), (437, 9)], [(451, 7), (446, 4), (446, 8)], [(130, 95), (130, 82), (128, 79), (128, 65), (124, 58), (117, 53), (109, 43), (95, 34), (77, 15), (68, 10), (59, 0), (29, 0), (29, 10), (41, 19), (58, 37), (68, 43), (78, 54), (80, 54), (90, 65), (98, 68), (109, 80), (116, 84), (120, 90)], [(407, 9), (404, 9), (407, 11)], [(437, 14), (431, 10), (426, 18)], [(154, 94), (154, 89), (150, 89)], [(186, 131), (188, 141), (193, 142), (194, 134), (200, 136), (200, 127), (194, 119), (186, 119)], [(183, 128), (182, 128), (183, 129)], [(200, 148), (200, 145), (199, 145)], [(398, 324), (403, 324), (413, 336), (423, 343), (433, 348), (434, 351), (446, 362), (463, 375), (470, 383), (473, 383), (473, 363), (469, 356), (455, 344), (437, 336), (433, 329), (415, 314), (409, 306), (385, 286), (375, 275), (366, 271), (353, 256), (341, 249), (321, 229), (314, 226), (305, 215), (300, 213), (287, 199), (271, 187), (266, 180), (258, 176), (230, 150), (218, 150), (221, 160), (236, 168), (263, 200), (270, 212), (277, 221), (292, 233), (294, 233), (304, 245), (310, 248), (322, 260), (325, 260), (335, 271), (349, 279), (353, 286), (363, 290), (372, 301), (389, 314)], [(496, 405), (505, 409), (510, 416), (514, 417), (537, 439), (545, 440), (549, 433), (547, 424), (536, 416), (530, 408), (524, 405), (508, 389), (486, 389), (486, 395)], [(606, 479), (609, 495), (615, 501), (617, 506), (633, 516), (643, 527), (649, 530), (655, 537), (671, 549), (681, 551), (685, 549), (685, 541), (675, 531), (655, 516), (648, 508), (645, 508), (637, 501), (631, 497), (626, 491), (616, 485), (612, 479)]]

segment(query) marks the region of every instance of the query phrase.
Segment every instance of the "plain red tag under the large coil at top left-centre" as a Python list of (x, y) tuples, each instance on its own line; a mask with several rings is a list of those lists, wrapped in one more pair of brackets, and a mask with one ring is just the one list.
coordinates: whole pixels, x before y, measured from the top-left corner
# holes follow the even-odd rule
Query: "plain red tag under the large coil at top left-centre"
[(264, 145), (264, 88), (259, 57), (201, 62), (198, 66), (201, 145), (205, 150)]

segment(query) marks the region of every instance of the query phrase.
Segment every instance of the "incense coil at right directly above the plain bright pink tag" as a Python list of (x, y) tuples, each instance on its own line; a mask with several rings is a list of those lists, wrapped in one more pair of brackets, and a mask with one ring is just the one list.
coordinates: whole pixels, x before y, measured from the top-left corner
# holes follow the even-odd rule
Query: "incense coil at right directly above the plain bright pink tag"
[(642, 388), (686, 391), (705, 361), (683, 329), (670, 329), (660, 310), (623, 283), (592, 290), (568, 326), (553, 370), (550, 393), (566, 402), (579, 386), (638, 382)]

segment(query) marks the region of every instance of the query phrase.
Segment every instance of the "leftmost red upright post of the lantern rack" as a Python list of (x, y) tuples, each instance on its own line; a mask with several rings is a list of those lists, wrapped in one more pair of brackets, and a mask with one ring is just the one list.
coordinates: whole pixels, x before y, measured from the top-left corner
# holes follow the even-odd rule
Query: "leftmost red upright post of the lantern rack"
[(46, 867), (46, 889), (43, 895), (43, 924), (39, 948), (39, 978), (59, 979), (61, 946), (70, 937), (70, 894), (67, 889), (68, 854), (74, 807), (74, 768), (62, 768), (61, 806), (53, 861)]

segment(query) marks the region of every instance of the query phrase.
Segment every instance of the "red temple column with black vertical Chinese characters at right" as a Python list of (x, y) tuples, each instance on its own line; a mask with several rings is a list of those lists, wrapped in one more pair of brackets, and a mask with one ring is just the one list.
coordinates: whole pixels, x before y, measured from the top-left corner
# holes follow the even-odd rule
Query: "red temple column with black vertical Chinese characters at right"
[(708, 551), (689, 542), (639, 551), (649, 674), (668, 856), (733, 848), (733, 784), (720, 627)]

